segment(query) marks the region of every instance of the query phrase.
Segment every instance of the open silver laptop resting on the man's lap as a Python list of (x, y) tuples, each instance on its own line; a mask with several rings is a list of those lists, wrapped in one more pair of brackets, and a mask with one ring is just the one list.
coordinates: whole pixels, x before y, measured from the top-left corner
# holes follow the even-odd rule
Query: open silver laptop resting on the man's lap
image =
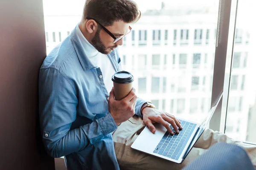
[[(155, 133), (152, 133), (146, 126), (131, 145), (131, 148), (181, 164), (195, 142), (197, 142), (201, 134), (207, 128), (222, 96), (223, 91), (218, 96), (201, 124), (178, 118), (183, 129), (180, 130), (179, 134), (175, 133), (174, 135), (169, 133), (163, 125), (158, 123), (154, 125), (156, 127)], [(175, 132), (172, 125), (170, 125), (170, 127), (172, 131)], [(145, 141), (147, 144), (145, 144)]]

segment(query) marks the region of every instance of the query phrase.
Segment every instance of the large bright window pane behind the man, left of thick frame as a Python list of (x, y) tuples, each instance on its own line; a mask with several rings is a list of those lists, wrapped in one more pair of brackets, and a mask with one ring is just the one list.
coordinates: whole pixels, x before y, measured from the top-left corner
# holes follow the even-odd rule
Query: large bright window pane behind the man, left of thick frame
[[(168, 113), (201, 122), (210, 108), (219, 1), (134, 1), (142, 17), (131, 24), (133, 30), (119, 46), (119, 54), (122, 68), (134, 75), (137, 96), (154, 102)], [(63, 41), (80, 22), (84, 0), (43, 0), (43, 3), (49, 54), (60, 43), (58, 40)], [(56, 42), (53, 42), (53, 32)], [(246, 35), (242, 40), (250, 44), (252, 35), (244, 31), (242, 34)], [(244, 65), (247, 68), (251, 54), (248, 53), (247, 60), (243, 55), (241, 53), (240, 68)], [(247, 83), (244, 91), (246, 89)], [(245, 101), (243, 97), (242, 109)], [(190, 113), (195, 111), (194, 107), (197, 112)]]

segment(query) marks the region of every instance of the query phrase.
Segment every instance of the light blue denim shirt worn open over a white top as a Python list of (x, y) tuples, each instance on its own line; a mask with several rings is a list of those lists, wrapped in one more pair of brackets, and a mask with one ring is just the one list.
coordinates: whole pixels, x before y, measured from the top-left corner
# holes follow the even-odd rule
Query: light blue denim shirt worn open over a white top
[[(117, 50), (108, 55), (120, 71)], [(119, 170), (108, 112), (109, 94), (101, 69), (85, 56), (76, 28), (45, 58), (39, 73), (39, 115), (44, 146), (52, 157), (65, 156), (68, 170)], [(111, 79), (112, 75), (109, 75)], [(135, 114), (145, 103), (137, 99)]]

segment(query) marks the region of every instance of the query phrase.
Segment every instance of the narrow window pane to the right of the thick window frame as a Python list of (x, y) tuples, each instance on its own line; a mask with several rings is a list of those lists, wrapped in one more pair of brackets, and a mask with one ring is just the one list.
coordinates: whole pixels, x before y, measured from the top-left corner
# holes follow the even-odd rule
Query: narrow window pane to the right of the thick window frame
[[(225, 133), (233, 139), (256, 143), (256, 1), (239, 0)], [(228, 86), (228, 83), (226, 84)]]

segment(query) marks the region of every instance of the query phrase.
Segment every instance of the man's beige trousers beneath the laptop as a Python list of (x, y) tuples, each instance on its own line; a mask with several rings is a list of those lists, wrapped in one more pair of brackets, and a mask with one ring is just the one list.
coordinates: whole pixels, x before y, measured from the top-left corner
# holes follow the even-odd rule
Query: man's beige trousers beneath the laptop
[(234, 141), (227, 135), (210, 129), (204, 131), (182, 164), (133, 150), (131, 144), (144, 127), (143, 120), (139, 116), (133, 116), (128, 121), (123, 122), (113, 133), (116, 158), (121, 170), (180, 170), (217, 142), (237, 144), (243, 147), (256, 168), (256, 146)]

